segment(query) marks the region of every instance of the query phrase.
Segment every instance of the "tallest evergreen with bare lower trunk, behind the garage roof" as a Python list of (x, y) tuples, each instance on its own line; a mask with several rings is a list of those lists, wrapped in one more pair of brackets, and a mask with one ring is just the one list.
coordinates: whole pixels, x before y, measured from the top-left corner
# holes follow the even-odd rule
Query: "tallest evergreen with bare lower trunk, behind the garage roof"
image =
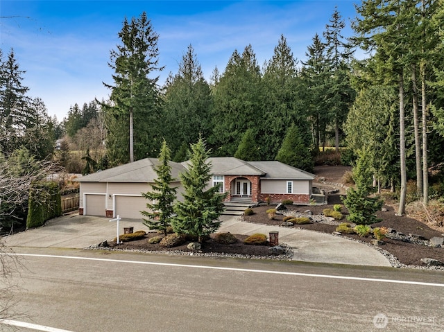
[(143, 12), (130, 22), (123, 21), (119, 38), (122, 44), (111, 51), (109, 63), (114, 70), (114, 85), (104, 83), (112, 90), (110, 103), (103, 105), (109, 132), (108, 150), (114, 163), (157, 155), (155, 151), (160, 146), (158, 76), (148, 77), (162, 70), (157, 66), (158, 35)]

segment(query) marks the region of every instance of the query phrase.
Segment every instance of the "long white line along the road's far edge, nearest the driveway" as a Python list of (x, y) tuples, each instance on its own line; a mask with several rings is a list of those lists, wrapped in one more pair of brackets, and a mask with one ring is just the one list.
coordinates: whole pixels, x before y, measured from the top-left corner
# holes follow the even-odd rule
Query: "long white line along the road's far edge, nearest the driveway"
[(94, 258), (89, 258), (89, 257), (42, 255), (42, 254), (1, 254), (0, 253), (0, 255), (35, 256), (35, 257), (48, 257), (48, 258), (58, 258), (58, 259), (79, 259), (79, 260), (84, 260), (84, 261), (103, 261), (103, 262), (112, 262), (112, 263), (131, 263), (131, 264), (142, 264), (142, 265), (162, 265), (162, 266), (173, 266), (173, 267), (178, 267), (178, 268), (200, 268), (200, 269), (208, 269), (208, 270), (226, 270), (226, 271), (254, 272), (254, 273), (265, 273), (265, 274), (283, 274), (283, 275), (292, 275), (292, 276), (298, 276), (298, 277), (316, 277), (316, 278), (329, 278), (329, 279), (375, 281), (375, 282), (384, 282), (384, 283), (404, 283), (404, 284), (408, 284), (408, 285), (418, 285), (418, 286), (444, 287), (444, 283), (428, 283), (428, 282), (421, 282), (421, 281), (376, 279), (376, 278), (363, 278), (363, 277), (345, 277), (345, 276), (335, 276), (335, 275), (330, 275), (330, 274), (311, 274), (311, 273), (300, 273), (300, 272), (252, 270), (252, 269), (241, 269), (241, 268), (223, 268), (221, 266), (189, 265), (189, 264), (175, 264), (175, 263), (155, 263), (155, 262), (143, 262), (143, 261), (126, 261), (126, 260), (119, 260), (119, 259), (94, 259)]

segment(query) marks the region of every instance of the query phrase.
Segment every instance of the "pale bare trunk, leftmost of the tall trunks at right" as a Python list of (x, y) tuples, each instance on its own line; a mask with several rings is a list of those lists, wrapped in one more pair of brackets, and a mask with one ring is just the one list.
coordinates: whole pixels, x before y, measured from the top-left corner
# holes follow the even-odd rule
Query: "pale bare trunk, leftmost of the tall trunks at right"
[(405, 199), (407, 194), (407, 170), (405, 164), (405, 123), (404, 123), (404, 78), (402, 71), (399, 74), (400, 85), (400, 166), (401, 166), (401, 192), (398, 216), (404, 216)]

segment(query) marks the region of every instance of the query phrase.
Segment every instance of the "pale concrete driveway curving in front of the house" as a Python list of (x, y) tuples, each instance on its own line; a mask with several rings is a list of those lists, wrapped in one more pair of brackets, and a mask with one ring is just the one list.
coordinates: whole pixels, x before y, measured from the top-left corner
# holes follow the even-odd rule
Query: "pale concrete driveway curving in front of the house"
[[(46, 222), (46, 225), (3, 238), (9, 247), (62, 247), (82, 249), (97, 245), (117, 236), (117, 223), (109, 218), (78, 216), (71, 214)], [(242, 222), (239, 217), (223, 216), (219, 231), (232, 234), (267, 234), (279, 231), (280, 243), (287, 243), (294, 251), (293, 261), (339, 263), (350, 265), (391, 266), (384, 255), (368, 245), (330, 234), (305, 229), (272, 227)], [(134, 227), (134, 231), (148, 228), (140, 220), (120, 221), (119, 234), (123, 227)]]

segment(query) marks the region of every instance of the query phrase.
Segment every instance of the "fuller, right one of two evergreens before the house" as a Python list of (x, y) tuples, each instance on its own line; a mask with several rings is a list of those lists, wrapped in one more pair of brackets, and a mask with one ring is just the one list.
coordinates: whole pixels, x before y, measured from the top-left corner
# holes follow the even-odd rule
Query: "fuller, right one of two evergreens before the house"
[(207, 158), (209, 151), (205, 140), (200, 137), (197, 143), (191, 144), (191, 154), (187, 171), (180, 175), (183, 193), (183, 202), (177, 202), (174, 210), (177, 216), (172, 225), (178, 234), (197, 236), (203, 241), (205, 236), (219, 229), (225, 195), (221, 195), (217, 186), (207, 189), (211, 180), (212, 165)]

